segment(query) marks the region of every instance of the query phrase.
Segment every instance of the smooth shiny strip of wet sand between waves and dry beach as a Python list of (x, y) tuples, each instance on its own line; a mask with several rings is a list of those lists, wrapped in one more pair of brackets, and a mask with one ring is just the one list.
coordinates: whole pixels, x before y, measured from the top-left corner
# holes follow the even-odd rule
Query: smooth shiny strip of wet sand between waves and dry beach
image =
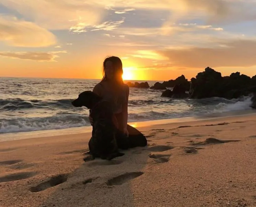
[[(156, 125), (167, 125), (167, 124), (176, 124), (176, 123), (188, 123), (196, 122), (202, 120), (214, 120), (214, 119), (225, 119), (232, 117), (241, 117), (241, 116), (250, 116), (255, 115), (256, 110), (243, 110), (243, 111), (231, 111), (224, 113), (212, 113), (205, 114), (194, 117), (181, 117), (181, 118), (171, 118), (171, 119), (158, 119), (158, 120), (147, 120), (147, 121), (138, 121), (138, 122), (128, 122), (131, 126), (140, 129), (143, 127), (151, 127)], [(21, 139), (33, 139), (33, 138), (42, 138), (42, 137), (54, 137), (61, 135), (71, 135), (71, 134), (84, 134), (91, 133), (91, 126), (79, 126), (79, 127), (70, 127), (65, 129), (51, 129), (51, 130), (37, 130), (37, 131), (28, 131), (28, 132), (10, 132), (0, 134), (0, 143), (15, 141)]]

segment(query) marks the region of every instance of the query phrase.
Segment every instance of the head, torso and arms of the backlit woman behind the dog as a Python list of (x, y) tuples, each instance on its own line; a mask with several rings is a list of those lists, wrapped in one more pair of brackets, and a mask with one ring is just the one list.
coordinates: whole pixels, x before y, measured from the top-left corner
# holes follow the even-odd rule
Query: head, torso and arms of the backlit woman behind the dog
[[(129, 86), (123, 82), (123, 65), (120, 58), (112, 56), (103, 62), (103, 78), (93, 88), (93, 92), (110, 101), (114, 112), (114, 124), (129, 136), (127, 131)], [(93, 120), (89, 114), (90, 123)]]

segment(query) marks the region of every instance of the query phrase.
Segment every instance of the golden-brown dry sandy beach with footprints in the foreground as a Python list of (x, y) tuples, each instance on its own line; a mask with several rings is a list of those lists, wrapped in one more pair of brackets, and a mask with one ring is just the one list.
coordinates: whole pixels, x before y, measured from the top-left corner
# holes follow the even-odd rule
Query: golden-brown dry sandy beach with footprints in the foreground
[(256, 206), (256, 115), (138, 127), (147, 147), (84, 162), (91, 133), (0, 142), (1, 207)]

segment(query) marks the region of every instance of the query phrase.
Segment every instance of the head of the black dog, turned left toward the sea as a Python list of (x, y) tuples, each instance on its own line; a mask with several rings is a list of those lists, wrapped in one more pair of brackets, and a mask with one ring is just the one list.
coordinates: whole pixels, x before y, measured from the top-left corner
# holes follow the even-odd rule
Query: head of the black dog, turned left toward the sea
[(97, 102), (101, 100), (97, 94), (93, 93), (90, 90), (86, 90), (79, 94), (78, 98), (72, 101), (72, 105), (74, 107), (82, 107), (85, 106), (88, 109), (92, 109), (93, 106), (96, 105)]

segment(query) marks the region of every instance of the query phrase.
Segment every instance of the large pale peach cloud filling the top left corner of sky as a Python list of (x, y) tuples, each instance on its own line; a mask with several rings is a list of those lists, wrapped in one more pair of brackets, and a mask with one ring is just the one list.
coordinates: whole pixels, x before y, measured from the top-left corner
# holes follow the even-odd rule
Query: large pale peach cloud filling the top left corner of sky
[(50, 30), (99, 24), (107, 11), (97, 1), (82, 0), (1, 0), (1, 4)]

